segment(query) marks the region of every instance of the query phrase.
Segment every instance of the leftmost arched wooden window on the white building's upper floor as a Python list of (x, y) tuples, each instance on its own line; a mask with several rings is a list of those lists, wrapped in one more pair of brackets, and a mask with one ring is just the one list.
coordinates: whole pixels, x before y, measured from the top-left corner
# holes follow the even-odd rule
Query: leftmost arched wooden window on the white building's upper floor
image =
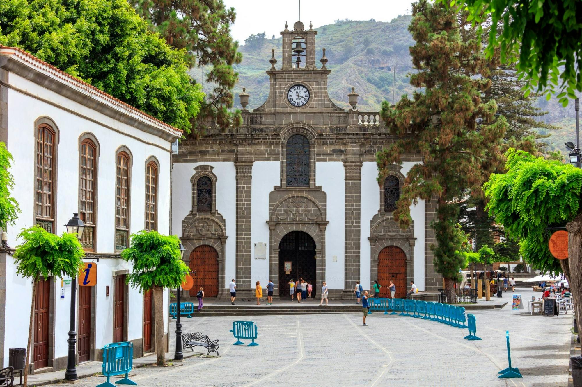
[(36, 127), (36, 223), (48, 232), (55, 232), (56, 133), (48, 124)]

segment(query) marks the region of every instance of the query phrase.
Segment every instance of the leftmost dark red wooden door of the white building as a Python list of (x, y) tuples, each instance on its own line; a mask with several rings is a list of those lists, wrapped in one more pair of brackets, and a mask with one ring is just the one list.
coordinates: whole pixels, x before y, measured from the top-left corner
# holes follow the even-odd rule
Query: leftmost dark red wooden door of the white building
[(34, 369), (48, 367), (48, 321), (51, 309), (51, 282), (36, 283), (34, 298)]

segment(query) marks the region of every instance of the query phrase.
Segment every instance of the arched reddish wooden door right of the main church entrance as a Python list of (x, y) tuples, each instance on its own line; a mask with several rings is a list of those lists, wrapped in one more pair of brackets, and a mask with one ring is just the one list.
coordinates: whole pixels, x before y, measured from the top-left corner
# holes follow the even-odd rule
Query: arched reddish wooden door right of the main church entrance
[(381, 297), (390, 297), (390, 281), (396, 285), (395, 298), (406, 298), (406, 255), (396, 246), (388, 246), (378, 254), (378, 282)]

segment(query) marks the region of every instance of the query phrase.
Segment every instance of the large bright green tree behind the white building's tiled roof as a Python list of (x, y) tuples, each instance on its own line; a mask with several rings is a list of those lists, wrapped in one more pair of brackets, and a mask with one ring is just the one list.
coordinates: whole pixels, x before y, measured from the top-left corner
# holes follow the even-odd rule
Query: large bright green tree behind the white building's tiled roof
[(151, 33), (125, 0), (5, 0), (0, 15), (0, 44), (190, 131), (204, 95), (186, 53)]

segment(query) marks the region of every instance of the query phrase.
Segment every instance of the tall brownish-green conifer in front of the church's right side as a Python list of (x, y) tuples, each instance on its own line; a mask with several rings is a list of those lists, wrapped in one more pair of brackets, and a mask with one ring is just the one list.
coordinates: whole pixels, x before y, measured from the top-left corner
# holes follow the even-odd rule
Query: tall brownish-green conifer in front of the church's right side
[[(413, 166), (402, 187), (394, 218), (410, 224), (410, 206), (418, 198), (438, 202), (438, 220), (432, 224), (437, 246), (435, 270), (443, 275), (447, 296), (464, 266), (458, 253), (462, 238), (455, 225), (459, 200), (469, 189), (481, 194), (481, 185), (502, 160), (501, 139), (506, 124), (495, 116), (495, 101), (482, 103), (489, 87), (488, 61), (478, 38), (463, 41), (460, 30), (470, 26), (459, 10), (426, 0), (413, 4), (409, 31), (416, 44), (410, 48), (417, 73), (410, 84), (424, 88), (413, 99), (404, 95), (395, 108), (382, 103), (381, 117), (388, 130), (402, 136), (390, 149), (377, 154), (379, 177), (384, 181), (392, 164), (404, 153), (420, 153), (424, 163)], [(479, 75), (479, 76), (478, 76)]]

